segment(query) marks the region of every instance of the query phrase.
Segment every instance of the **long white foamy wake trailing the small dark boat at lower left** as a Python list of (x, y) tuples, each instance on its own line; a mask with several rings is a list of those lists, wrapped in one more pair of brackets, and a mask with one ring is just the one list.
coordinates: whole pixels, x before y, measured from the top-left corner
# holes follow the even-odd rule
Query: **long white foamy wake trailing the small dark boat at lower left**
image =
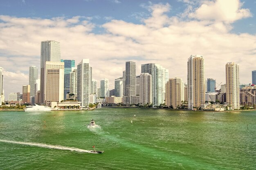
[(39, 143), (32, 143), (32, 142), (7, 141), (7, 140), (1, 140), (1, 139), (0, 139), (0, 142), (10, 143), (10, 144), (28, 145), (28, 146), (38, 146), (41, 148), (49, 148), (49, 149), (59, 149), (59, 150), (70, 150), (70, 151), (76, 151), (76, 152), (93, 153), (90, 150), (84, 150), (84, 149), (72, 148), (72, 147), (66, 147), (66, 146), (58, 146), (58, 145), (47, 145), (47, 144), (39, 144)]

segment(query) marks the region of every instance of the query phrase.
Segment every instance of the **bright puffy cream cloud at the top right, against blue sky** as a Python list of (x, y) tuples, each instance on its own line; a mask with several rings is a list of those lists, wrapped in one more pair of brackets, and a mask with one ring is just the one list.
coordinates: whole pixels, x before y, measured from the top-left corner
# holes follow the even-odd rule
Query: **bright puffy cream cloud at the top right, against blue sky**
[(234, 22), (242, 18), (252, 17), (249, 9), (241, 8), (243, 3), (239, 0), (216, 0), (203, 1), (202, 5), (191, 13), (191, 18), (199, 20), (215, 20), (223, 22)]

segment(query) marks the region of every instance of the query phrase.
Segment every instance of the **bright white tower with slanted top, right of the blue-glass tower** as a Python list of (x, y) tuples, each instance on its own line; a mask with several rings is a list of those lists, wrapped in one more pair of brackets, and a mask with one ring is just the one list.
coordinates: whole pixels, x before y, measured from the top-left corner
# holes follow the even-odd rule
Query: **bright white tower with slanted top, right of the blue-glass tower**
[(81, 108), (89, 107), (90, 75), (89, 59), (83, 59), (77, 65), (77, 99)]

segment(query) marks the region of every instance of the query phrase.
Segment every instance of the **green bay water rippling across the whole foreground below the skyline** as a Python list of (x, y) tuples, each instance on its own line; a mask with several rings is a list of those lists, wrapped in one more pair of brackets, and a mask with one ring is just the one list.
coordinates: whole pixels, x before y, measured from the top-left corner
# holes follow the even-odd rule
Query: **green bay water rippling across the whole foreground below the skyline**
[[(98, 127), (88, 127), (91, 119)], [(255, 111), (2, 111), (0, 140), (9, 141), (0, 141), (1, 170), (256, 169)], [(104, 153), (59, 150), (30, 143), (83, 150), (95, 146)]]

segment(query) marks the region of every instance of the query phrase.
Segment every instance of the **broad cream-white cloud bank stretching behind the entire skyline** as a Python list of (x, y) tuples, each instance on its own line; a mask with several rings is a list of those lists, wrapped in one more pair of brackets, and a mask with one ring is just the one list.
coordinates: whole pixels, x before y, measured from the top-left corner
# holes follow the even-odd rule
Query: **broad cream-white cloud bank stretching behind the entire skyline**
[(6, 97), (28, 84), (29, 66), (40, 68), (43, 40), (60, 42), (62, 59), (78, 64), (89, 58), (93, 78), (108, 78), (110, 89), (128, 60), (137, 63), (137, 74), (141, 64), (153, 62), (169, 69), (169, 77), (186, 82), (191, 54), (204, 55), (207, 78), (225, 82), (225, 64), (238, 62), (240, 82), (251, 82), (251, 71), (256, 69), (252, 64), (256, 62), (256, 35), (231, 33), (232, 25), (223, 19), (169, 17), (169, 4), (151, 4), (148, 10), (151, 16), (141, 24), (111, 20), (101, 25), (106, 29), (101, 34), (93, 33), (96, 25), (83, 16), (41, 19), (0, 15), (0, 66), (4, 68)]

